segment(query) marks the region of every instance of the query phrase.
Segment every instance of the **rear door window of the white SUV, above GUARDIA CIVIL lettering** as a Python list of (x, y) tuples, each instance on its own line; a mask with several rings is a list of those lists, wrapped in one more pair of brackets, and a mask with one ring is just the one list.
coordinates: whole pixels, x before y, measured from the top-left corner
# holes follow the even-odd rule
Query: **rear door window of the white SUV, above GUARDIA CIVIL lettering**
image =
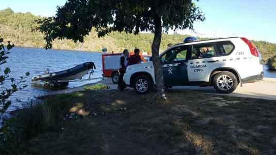
[(191, 59), (211, 58), (216, 56), (215, 44), (199, 44), (194, 45)]

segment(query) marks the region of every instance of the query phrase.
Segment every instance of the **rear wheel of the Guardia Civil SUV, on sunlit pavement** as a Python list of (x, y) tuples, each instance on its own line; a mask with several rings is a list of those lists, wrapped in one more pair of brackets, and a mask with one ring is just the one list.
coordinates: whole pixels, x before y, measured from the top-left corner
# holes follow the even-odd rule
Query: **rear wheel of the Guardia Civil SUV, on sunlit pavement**
[(215, 90), (224, 94), (233, 92), (238, 85), (237, 77), (228, 71), (216, 74), (212, 82)]

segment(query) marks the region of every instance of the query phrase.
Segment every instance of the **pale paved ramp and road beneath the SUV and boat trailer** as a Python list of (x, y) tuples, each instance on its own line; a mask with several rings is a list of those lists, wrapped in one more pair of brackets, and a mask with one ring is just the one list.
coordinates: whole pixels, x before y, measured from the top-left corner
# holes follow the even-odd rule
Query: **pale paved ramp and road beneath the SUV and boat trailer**
[[(84, 86), (91, 86), (98, 83), (103, 83), (105, 85), (108, 85), (109, 89), (107, 90), (117, 90), (117, 84), (113, 84), (111, 78), (104, 78), (102, 80), (99, 80), (96, 83), (90, 83), (90, 84), (85, 84), (74, 88), (53, 91), (45, 96), (65, 95), (65, 94), (71, 94), (71, 93), (81, 92), (81, 91), (90, 91), (90, 90), (85, 90)], [(261, 89), (262, 86), (266, 87), (266, 91), (260, 91), (262, 90)], [(219, 94), (215, 90), (213, 90), (212, 86), (206, 87), (206, 88), (202, 88), (199, 86), (176, 86), (167, 92), (170, 92), (170, 91), (181, 92), (181, 91), (192, 90), (192, 91), (201, 92), (203, 94), (207, 93), (207, 94), (213, 94), (218, 96), (232, 96), (232, 97), (242, 97), (242, 98), (276, 100), (276, 91), (271, 92), (272, 90), (274, 90), (274, 86), (276, 88), (276, 78), (264, 78), (263, 80), (255, 83), (244, 84), (243, 87), (238, 86), (237, 89), (231, 94)], [(126, 90), (133, 91), (131, 88), (126, 88)], [(93, 90), (93, 91), (98, 91), (98, 90)], [(44, 98), (45, 96), (38, 96), (37, 98)]]

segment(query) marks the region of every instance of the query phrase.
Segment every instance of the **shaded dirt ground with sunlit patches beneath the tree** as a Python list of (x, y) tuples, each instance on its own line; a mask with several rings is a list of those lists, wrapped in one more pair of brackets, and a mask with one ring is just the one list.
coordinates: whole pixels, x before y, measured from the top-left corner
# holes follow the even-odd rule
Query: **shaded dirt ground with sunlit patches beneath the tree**
[[(74, 105), (34, 154), (276, 154), (275, 101), (196, 91), (153, 94), (85, 91), (48, 96)], [(63, 101), (59, 101), (63, 98)]]

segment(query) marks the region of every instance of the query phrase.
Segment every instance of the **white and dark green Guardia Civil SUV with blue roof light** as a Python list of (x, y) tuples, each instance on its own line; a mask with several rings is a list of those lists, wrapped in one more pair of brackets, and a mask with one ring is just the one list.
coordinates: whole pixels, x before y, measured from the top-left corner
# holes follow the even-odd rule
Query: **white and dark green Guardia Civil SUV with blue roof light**
[[(263, 79), (261, 55), (246, 38), (232, 37), (174, 45), (160, 55), (164, 85), (214, 86), (231, 93), (240, 83)], [(136, 92), (146, 94), (155, 85), (152, 61), (130, 65), (124, 81)]]

